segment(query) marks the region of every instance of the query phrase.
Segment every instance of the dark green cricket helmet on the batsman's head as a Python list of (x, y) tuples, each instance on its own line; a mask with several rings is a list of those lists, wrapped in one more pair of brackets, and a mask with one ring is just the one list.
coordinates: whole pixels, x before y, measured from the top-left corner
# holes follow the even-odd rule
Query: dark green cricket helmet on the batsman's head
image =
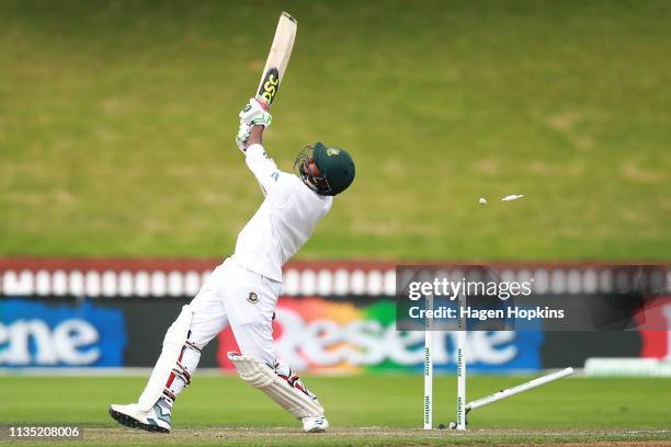
[[(314, 175), (308, 168), (310, 161), (317, 165), (319, 175)], [(294, 163), (294, 172), (303, 183), (317, 194), (327, 196), (345, 191), (354, 181), (354, 161), (344, 149), (327, 148), (320, 141), (307, 146)]]

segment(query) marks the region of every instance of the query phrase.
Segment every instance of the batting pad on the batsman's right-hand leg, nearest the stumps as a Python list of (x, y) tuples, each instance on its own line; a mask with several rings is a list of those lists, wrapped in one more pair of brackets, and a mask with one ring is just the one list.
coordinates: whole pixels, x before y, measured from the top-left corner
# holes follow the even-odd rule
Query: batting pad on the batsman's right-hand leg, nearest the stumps
[(254, 357), (234, 352), (228, 353), (228, 358), (238, 368), (238, 374), (242, 380), (265, 392), (296, 419), (323, 416), (323, 408), (319, 402), (288, 385), (268, 365)]

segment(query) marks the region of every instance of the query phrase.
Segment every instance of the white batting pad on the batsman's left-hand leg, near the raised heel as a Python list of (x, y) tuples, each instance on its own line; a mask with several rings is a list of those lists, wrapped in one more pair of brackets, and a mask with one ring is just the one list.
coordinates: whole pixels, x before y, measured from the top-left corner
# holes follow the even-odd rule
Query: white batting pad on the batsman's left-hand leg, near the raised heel
[(193, 311), (189, 305), (182, 308), (182, 312), (179, 314), (177, 320), (168, 328), (166, 337), (163, 339), (163, 348), (159, 359), (156, 362), (156, 366), (151, 371), (147, 387), (143, 391), (137, 404), (141, 411), (149, 411), (153, 404), (159, 400), (166, 388), (166, 382), (172, 373), (184, 342), (189, 336), (189, 330), (191, 329), (191, 319)]

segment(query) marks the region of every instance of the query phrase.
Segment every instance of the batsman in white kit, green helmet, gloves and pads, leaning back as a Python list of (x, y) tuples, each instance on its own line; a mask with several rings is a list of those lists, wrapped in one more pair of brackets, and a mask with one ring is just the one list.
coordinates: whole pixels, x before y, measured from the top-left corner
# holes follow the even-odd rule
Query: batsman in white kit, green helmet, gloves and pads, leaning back
[(238, 234), (234, 255), (215, 268), (166, 332), (137, 403), (110, 406), (110, 415), (128, 427), (170, 432), (172, 406), (191, 383), (201, 351), (229, 325), (240, 353), (228, 353), (228, 358), (240, 378), (302, 421), (305, 432), (325, 432), (329, 426), (317, 397), (275, 357), (272, 320), (282, 266), (329, 211), (333, 196), (350, 186), (354, 162), (344, 150), (316, 142), (296, 158), (295, 175), (280, 171), (262, 146), (263, 131), (272, 122), (268, 107), (252, 99), (239, 116), (236, 142), (265, 198)]

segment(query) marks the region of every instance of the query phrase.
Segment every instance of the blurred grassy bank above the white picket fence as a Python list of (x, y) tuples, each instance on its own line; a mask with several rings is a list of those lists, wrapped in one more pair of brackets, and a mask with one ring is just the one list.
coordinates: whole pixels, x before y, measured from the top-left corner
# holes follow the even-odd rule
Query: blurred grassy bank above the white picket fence
[(304, 259), (668, 260), (666, 0), (4, 0), (0, 254), (230, 253), (261, 200), (237, 112), (283, 9), (266, 147), (357, 161)]

